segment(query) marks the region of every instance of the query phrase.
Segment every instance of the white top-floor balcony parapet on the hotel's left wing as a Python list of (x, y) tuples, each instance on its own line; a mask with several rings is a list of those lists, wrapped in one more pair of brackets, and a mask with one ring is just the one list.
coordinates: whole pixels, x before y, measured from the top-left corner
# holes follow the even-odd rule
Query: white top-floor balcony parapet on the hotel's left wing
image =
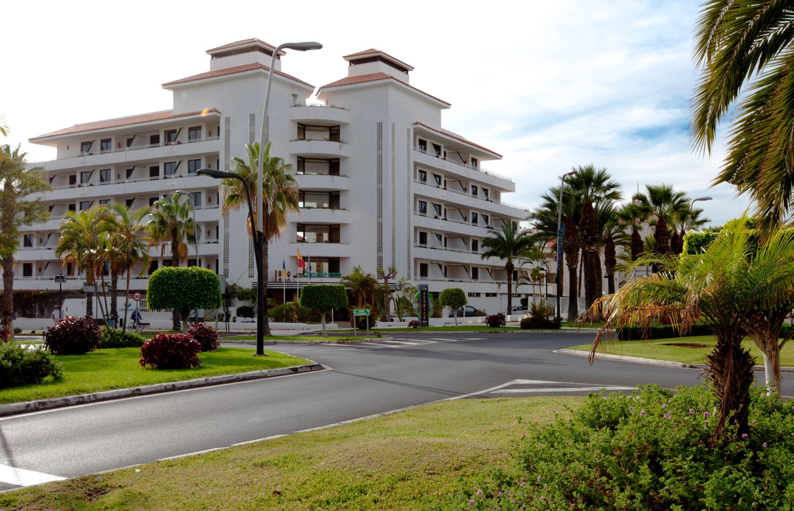
[(69, 168), (93, 167), (101, 165), (121, 165), (127, 161), (141, 162), (161, 160), (170, 157), (183, 157), (191, 154), (209, 154), (220, 151), (218, 137), (204, 137), (190, 141), (165, 142), (163, 144), (136, 145), (82, 153), (75, 156), (60, 157), (57, 160), (44, 162), (45, 171), (54, 172)]

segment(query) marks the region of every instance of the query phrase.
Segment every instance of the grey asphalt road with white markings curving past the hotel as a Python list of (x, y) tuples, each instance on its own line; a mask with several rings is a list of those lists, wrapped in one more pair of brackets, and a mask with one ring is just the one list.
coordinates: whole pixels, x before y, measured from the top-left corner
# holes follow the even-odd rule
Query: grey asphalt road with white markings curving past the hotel
[[(700, 375), (607, 360), (590, 366), (587, 358), (553, 353), (588, 342), (592, 333), (439, 333), (355, 346), (268, 345), (330, 370), (0, 418), (0, 490), (472, 393), (585, 395), (651, 382), (693, 385)], [(792, 392), (794, 381), (785, 382), (784, 394)]]

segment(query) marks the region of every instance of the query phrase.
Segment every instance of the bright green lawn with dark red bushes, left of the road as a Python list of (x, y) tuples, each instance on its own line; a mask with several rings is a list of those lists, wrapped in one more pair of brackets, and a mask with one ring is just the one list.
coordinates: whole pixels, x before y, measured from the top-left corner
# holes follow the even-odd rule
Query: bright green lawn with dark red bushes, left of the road
[(253, 350), (245, 348), (222, 347), (216, 351), (199, 354), (201, 366), (172, 370), (145, 369), (138, 365), (141, 359), (140, 348), (96, 350), (84, 355), (56, 355), (56, 360), (63, 364), (65, 376), (63, 380), (0, 389), (0, 404), (308, 363), (303, 358), (277, 351), (268, 351), (267, 357), (254, 357), (253, 353)]

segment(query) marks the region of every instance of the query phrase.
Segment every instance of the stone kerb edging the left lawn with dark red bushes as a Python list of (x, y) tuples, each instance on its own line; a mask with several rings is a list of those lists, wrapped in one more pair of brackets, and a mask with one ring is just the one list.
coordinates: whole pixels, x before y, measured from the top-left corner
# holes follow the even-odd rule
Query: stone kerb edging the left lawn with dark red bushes
[(233, 383), (235, 381), (260, 380), (262, 378), (285, 376), (287, 374), (308, 373), (310, 371), (318, 371), (322, 369), (325, 368), (321, 364), (312, 362), (303, 366), (279, 367), (278, 369), (249, 371), (248, 373), (239, 374), (222, 374), (220, 376), (196, 378), (195, 380), (155, 383), (152, 385), (143, 385), (141, 387), (132, 387), (129, 389), (104, 390), (102, 392), (95, 392), (91, 394), (51, 397), (49, 399), (37, 399), (36, 401), (21, 401), (20, 403), (0, 405), (0, 416), (17, 415), (19, 413), (36, 412), (37, 410), (61, 408), (71, 405), (83, 405), (97, 401), (109, 401), (112, 399), (121, 399), (122, 397), (145, 396), (148, 394), (164, 393), (172, 390), (196, 389), (198, 387), (222, 385), (224, 383)]

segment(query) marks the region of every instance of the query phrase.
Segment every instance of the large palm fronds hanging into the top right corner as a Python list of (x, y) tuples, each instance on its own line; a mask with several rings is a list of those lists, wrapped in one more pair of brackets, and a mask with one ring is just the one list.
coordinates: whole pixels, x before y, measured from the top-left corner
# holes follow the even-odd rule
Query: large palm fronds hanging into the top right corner
[[(784, 1), (703, 3), (694, 56), (701, 71), (692, 104), (692, 141), (711, 153), (717, 125), (730, 115), (727, 157), (715, 183), (754, 199), (760, 227), (781, 224), (792, 204), (794, 32)], [(738, 104), (742, 87), (749, 88)]]

